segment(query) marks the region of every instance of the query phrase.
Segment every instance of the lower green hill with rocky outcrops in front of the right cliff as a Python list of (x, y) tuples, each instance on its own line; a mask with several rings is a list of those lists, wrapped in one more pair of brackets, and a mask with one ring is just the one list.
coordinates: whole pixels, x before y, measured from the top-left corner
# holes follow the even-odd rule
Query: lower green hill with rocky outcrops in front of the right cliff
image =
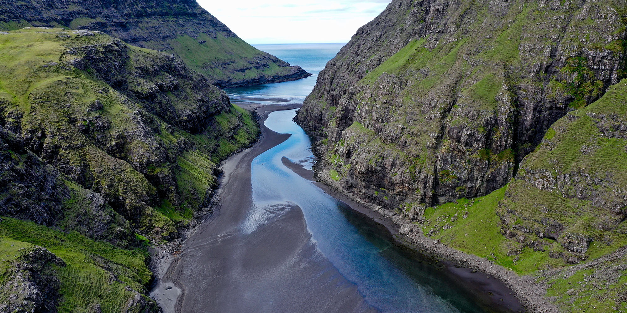
[(519, 274), (539, 271), (565, 312), (627, 310), (626, 124), (623, 80), (554, 123), (506, 187), (427, 208), (424, 233)]

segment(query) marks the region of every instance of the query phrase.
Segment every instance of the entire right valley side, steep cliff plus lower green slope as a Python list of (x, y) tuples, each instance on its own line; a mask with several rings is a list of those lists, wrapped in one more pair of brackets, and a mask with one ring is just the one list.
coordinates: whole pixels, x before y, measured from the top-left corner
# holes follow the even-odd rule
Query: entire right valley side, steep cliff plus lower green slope
[(321, 177), (565, 312), (627, 310), (626, 8), (393, 1), (298, 112)]

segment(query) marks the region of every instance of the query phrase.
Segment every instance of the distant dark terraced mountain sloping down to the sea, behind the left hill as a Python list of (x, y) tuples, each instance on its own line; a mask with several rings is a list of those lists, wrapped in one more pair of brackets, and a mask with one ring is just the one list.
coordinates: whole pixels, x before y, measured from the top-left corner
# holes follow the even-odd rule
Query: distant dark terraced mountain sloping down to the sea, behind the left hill
[(129, 44), (174, 53), (220, 87), (309, 76), (241, 40), (195, 0), (3, 1), (0, 29), (24, 26), (103, 31)]

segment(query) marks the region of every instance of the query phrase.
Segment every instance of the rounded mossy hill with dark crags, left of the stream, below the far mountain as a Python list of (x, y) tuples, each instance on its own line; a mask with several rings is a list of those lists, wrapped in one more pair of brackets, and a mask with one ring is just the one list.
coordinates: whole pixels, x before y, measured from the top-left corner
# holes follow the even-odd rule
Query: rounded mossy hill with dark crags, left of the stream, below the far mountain
[(40, 45), (36, 57), (1, 56), (0, 80), (22, 83), (3, 85), (0, 126), (143, 232), (176, 233), (154, 208), (206, 207), (215, 163), (256, 136), (250, 116), (170, 54), (87, 31), (3, 39), (6, 51)]

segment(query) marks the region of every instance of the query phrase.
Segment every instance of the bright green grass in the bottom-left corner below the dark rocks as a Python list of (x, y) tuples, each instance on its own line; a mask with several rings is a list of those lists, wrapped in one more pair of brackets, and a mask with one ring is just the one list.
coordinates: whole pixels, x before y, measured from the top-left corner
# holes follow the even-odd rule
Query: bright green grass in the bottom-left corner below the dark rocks
[[(96, 304), (100, 304), (102, 312), (120, 312), (135, 295), (125, 286), (145, 292), (145, 286), (152, 279), (145, 263), (148, 254), (144, 248), (120, 249), (76, 232), (64, 233), (33, 222), (3, 217), (0, 255), (15, 255), (16, 249), (31, 245), (46, 247), (66, 263), (65, 267), (53, 267), (61, 283), (59, 312), (89, 312)], [(1, 264), (6, 269), (6, 262)], [(112, 275), (120, 281), (112, 280)]]

